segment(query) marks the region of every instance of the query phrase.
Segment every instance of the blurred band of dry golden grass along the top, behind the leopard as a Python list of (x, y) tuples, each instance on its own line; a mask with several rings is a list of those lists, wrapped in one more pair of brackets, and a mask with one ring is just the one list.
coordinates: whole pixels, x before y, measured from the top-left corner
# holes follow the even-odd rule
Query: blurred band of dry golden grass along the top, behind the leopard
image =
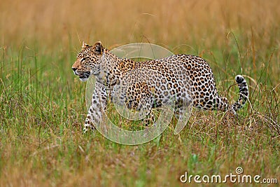
[[(39, 45), (69, 40), (106, 46), (151, 41), (166, 46), (225, 46), (228, 32), (249, 39), (255, 50), (279, 34), (278, 1), (1, 1), (1, 45), (38, 39)], [(247, 41), (250, 43), (251, 41)], [(279, 45), (279, 43), (274, 43)], [(217, 46), (218, 45), (218, 46)], [(276, 46), (275, 46), (276, 47)]]

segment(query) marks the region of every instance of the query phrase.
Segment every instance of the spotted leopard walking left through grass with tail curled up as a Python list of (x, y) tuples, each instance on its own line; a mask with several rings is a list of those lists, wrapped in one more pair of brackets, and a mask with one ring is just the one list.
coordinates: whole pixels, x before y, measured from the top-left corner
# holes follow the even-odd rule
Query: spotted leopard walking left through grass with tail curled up
[(190, 104), (197, 109), (228, 111), (237, 116), (249, 94), (244, 76), (237, 75), (237, 101), (230, 104), (226, 97), (218, 95), (214, 74), (202, 57), (179, 54), (137, 62), (114, 55), (100, 41), (93, 46), (83, 42), (71, 69), (80, 81), (96, 78), (83, 132), (94, 131), (94, 124), (102, 120), (102, 110), (106, 111), (116, 90), (119, 104), (129, 109), (151, 111), (173, 99), (179, 118), (186, 112), (184, 106)]

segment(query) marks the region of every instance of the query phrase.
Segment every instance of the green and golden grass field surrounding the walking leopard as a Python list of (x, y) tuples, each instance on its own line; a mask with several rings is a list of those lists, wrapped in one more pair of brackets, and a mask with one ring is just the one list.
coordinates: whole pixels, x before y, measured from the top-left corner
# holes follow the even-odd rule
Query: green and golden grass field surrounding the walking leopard
[[(0, 2), (0, 186), (180, 186), (190, 174), (260, 174), (280, 180), (279, 1)], [(204, 57), (218, 92), (250, 104), (229, 120), (194, 111), (155, 141), (122, 146), (81, 134), (85, 83), (71, 65), (81, 42), (113, 49), (150, 42)]]

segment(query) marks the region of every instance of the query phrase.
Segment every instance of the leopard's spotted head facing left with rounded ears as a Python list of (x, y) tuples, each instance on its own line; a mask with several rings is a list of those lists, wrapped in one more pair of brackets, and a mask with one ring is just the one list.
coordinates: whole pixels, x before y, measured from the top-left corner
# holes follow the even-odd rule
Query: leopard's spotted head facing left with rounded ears
[(80, 78), (80, 81), (87, 81), (92, 74), (100, 73), (103, 54), (104, 47), (100, 41), (94, 46), (83, 42), (82, 50), (78, 53), (76, 62), (72, 66), (74, 74)]

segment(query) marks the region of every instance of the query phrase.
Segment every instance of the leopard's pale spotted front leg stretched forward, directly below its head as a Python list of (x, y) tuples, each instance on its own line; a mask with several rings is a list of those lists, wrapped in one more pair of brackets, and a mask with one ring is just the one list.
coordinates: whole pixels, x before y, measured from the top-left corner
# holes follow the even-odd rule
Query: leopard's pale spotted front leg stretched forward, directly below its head
[(94, 92), (92, 94), (92, 104), (88, 110), (87, 117), (83, 127), (83, 133), (87, 130), (94, 131), (94, 124), (100, 123), (102, 119), (102, 110), (106, 110), (107, 105), (107, 91), (105, 85), (102, 83), (95, 83)]

